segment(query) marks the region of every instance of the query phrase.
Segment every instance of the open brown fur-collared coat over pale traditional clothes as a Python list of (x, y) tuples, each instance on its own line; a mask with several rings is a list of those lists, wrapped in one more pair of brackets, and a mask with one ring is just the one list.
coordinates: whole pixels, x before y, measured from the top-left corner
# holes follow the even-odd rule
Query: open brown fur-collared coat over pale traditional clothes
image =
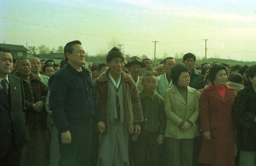
[[(95, 81), (93, 86), (95, 89), (95, 98), (99, 103), (99, 109), (102, 114), (103, 122), (105, 123), (104, 134), (109, 132), (108, 123), (108, 86), (109, 86), (109, 69), (103, 72)], [(136, 85), (128, 74), (121, 73), (123, 88), (125, 94), (124, 102), (124, 118), (125, 124), (128, 127), (129, 133), (134, 132), (134, 125), (143, 122), (142, 106)]]

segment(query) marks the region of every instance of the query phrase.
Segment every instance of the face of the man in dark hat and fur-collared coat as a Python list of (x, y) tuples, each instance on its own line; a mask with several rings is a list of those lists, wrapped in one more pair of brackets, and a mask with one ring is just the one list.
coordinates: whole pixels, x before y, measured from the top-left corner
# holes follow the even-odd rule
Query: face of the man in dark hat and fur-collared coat
[(107, 62), (111, 74), (120, 75), (122, 73), (122, 68), (124, 67), (122, 58), (114, 58), (110, 62)]

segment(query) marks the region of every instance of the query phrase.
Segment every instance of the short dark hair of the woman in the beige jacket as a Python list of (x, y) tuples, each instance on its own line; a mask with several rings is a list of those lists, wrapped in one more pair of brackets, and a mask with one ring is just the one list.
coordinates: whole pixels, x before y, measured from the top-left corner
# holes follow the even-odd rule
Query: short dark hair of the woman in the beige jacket
[(188, 72), (190, 74), (189, 68), (183, 64), (178, 64), (172, 67), (171, 77), (174, 85), (177, 85), (181, 72)]

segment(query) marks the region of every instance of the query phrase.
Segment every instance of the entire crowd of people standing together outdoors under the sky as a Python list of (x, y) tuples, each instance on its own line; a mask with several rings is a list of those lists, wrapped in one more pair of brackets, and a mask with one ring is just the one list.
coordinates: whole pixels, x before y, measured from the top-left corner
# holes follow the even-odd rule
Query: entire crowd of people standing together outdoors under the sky
[(256, 65), (186, 53), (155, 67), (114, 47), (85, 66), (0, 48), (1, 166), (255, 166)]

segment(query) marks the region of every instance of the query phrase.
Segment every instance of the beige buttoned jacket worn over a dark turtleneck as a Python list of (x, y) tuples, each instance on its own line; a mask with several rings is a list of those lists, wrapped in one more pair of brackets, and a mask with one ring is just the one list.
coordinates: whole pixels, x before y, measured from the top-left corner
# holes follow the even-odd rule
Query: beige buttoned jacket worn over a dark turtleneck
[[(196, 89), (188, 88), (187, 103), (176, 86), (164, 93), (164, 110), (166, 114), (165, 136), (175, 139), (190, 139), (199, 136), (197, 119), (199, 116), (199, 95)], [(192, 127), (183, 130), (179, 127), (182, 121), (190, 121)]]

